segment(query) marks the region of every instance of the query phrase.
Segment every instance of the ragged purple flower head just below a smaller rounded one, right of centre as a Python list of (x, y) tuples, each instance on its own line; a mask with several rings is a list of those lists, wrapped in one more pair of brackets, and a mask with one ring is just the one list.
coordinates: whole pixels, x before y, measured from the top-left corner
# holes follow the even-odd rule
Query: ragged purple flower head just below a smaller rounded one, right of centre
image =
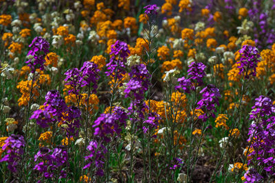
[[(199, 116), (199, 119), (203, 119), (206, 121), (208, 117), (215, 117), (214, 112), (216, 112), (215, 104), (219, 106), (219, 97), (221, 97), (219, 93), (219, 88), (212, 84), (208, 84), (205, 88), (203, 88), (200, 93), (202, 93), (202, 99), (198, 101), (197, 109), (205, 109), (204, 114)], [(207, 116), (209, 114), (209, 116)]]

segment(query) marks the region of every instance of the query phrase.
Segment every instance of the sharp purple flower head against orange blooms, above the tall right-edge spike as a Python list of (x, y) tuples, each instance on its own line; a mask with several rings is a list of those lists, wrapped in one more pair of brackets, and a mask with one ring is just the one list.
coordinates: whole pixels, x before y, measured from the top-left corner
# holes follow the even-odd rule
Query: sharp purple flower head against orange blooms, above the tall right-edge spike
[[(238, 66), (240, 69), (239, 75), (245, 74), (245, 79), (249, 78), (249, 75), (256, 76), (256, 67), (257, 63), (260, 62), (259, 58), (259, 51), (256, 49), (256, 47), (252, 47), (250, 45), (243, 45), (243, 48), (239, 51), (241, 53), (241, 59), (239, 62), (241, 63), (241, 66)], [(248, 71), (252, 69), (252, 72), (249, 73)]]

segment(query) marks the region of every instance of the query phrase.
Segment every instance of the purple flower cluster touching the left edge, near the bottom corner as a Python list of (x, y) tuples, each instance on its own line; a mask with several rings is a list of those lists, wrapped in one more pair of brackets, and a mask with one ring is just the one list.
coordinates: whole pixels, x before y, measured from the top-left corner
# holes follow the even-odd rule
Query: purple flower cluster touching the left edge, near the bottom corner
[(23, 136), (11, 134), (3, 145), (3, 151), (6, 150), (6, 155), (0, 160), (0, 162), (8, 162), (8, 169), (12, 173), (17, 173), (17, 165), (22, 159), (23, 147), (25, 147), (25, 141)]

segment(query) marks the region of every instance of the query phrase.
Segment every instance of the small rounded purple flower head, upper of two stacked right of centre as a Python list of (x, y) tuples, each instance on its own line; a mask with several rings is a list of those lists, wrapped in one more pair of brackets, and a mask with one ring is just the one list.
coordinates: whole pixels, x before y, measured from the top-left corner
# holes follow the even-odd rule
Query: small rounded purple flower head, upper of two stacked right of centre
[[(197, 83), (197, 86), (203, 85), (203, 77), (206, 75), (204, 69), (206, 66), (201, 62), (192, 62), (188, 69), (188, 75), (190, 75), (190, 80), (194, 83)], [(192, 88), (193, 90), (195, 88)]]

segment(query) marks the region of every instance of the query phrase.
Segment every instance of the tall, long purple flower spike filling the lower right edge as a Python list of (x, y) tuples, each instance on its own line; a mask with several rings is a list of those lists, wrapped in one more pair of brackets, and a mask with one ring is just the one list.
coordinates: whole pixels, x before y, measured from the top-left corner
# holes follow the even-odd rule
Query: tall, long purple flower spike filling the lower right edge
[[(250, 119), (254, 120), (248, 131), (248, 142), (252, 149), (248, 154), (248, 166), (252, 168), (245, 173), (245, 179), (247, 182), (262, 179), (265, 182), (275, 173), (275, 110), (272, 100), (264, 96), (257, 98)], [(259, 167), (263, 169), (261, 175), (256, 171)]]

